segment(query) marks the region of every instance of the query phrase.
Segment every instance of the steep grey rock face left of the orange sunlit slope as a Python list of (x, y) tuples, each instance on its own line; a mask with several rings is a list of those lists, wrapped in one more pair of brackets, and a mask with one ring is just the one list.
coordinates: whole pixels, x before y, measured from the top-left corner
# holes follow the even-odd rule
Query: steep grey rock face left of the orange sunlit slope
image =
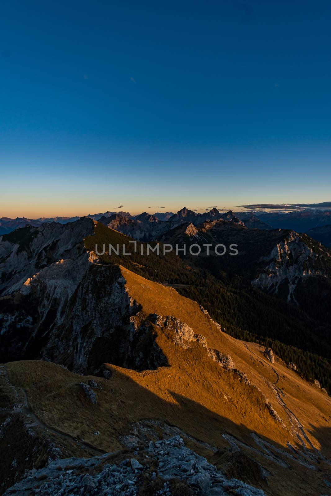
[(41, 358), (92, 373), (103, 362), (137, 370), (167, 365), (119, 267), (96, 265), (84, 248), (94, 226), (88, 218), (43, 224), (0, 243), (0, 289), (19, 298), (19, 305), (4, 300), (0, 310), (0, 362)]

